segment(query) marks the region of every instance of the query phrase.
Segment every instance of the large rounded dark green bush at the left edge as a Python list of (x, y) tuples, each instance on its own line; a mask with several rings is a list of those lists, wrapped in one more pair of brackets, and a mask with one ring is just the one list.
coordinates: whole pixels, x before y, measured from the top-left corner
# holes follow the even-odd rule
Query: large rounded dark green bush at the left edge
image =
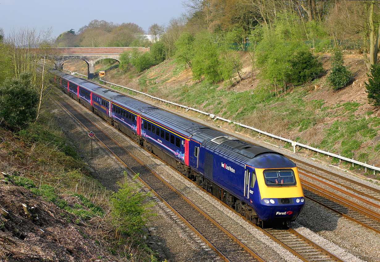
[(7, 79), (0, 86), (0, 118), (11, 128), (26, 127), (37, 116), (39, 99), (30, 74)]

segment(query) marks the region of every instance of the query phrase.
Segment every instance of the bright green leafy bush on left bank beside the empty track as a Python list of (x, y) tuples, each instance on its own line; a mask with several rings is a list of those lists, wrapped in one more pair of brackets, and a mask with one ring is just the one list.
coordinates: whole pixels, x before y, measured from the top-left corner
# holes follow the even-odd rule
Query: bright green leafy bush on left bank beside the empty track
[[(127, 180), (127, 175), (125, 180)], [(135, 235), (141, 231), (147, 219), (153, 214), (151, 202), (147, 202), (147, 194), (133, 183), (119, 183), (120, 189), (110, 199), (112, 224), (118, 235)]]

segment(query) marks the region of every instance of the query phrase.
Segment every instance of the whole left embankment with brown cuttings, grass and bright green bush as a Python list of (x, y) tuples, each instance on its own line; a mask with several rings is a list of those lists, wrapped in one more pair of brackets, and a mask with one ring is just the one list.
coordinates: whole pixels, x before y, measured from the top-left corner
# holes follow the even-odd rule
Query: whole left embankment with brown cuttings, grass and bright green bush
[[(9, 212), (7, 217), (0, 216), (4, 237), (0, 246), (7, 250), (0, 251), (0, 257), (11, 259), (12, 254), (16, 254), (14, 246), (7, 245), (7, 242), (20, 241), (12, 233), (14, 230), (32, 236), (35, 233), (31, 228), (37, 227), (45, 229), (48, 239), (51, 235), (63, 234), (61, 241), (36, 248), (35, 255), (41, 259), (156, 261), (155, 253), (143, 238), (142, 228), (152, 215), (144, 191), (127, 182), (120, 184), (119, 191), (114, 193), (105, 189), (91, 177), (90, 169), (68, 143), (50, 113), (44, 111), (37, 122), (25, 129), (11, 132), (0, 127), (0, 137), (0, 170), (7, 174), (2, 174), (0, 194), (9, 190), (22, 192), (21, 200), (11, 194), (0, 200), (1, 207)], [(37, 206), (38, 221), (32, 222), (21, 212), (22, 203)], [(48, 208), (43, 211), (45, 207)], [(57, 217), (49, 217), (45, 211)], [(22, 223), (16, 227), (17, 219)], [(66, 241), (67, 236), (75, 237), (71, 229), (79, 235)], [(36, 235), (29, 237), (28, 247), (40, 246), (39, 241), (43, 241), (44, 236)], [(82, 250), (81, 243), (88, 252)], [(76, 252), (67, 255), (61, 252), (62, 247)], [(28, 248), (22, 244), (17, 252), (25, 259), (30, 257)]]

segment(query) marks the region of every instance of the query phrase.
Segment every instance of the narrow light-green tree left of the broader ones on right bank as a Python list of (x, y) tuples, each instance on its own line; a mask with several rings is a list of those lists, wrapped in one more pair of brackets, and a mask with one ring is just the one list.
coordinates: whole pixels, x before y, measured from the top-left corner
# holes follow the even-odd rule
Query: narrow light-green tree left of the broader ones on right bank
[(174, 43), (176, 46), (175, 58), (178, 64), (192, 67), (191, 61), (195, 54), (194, 40), (195, 38), (190, 33), (183, 32)]

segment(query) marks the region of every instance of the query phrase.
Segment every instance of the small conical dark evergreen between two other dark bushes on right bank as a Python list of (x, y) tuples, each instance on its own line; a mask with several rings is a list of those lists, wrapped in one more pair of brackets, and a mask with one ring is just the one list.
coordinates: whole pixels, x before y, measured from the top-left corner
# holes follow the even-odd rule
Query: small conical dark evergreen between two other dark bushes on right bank
[(327, 81), (332, 89), (339, 90), (345, 87), (351, 79), (352, 73), (343, 64), (342, 51), (336, 49), (331, 59), (332, 69), (327, 76)]

